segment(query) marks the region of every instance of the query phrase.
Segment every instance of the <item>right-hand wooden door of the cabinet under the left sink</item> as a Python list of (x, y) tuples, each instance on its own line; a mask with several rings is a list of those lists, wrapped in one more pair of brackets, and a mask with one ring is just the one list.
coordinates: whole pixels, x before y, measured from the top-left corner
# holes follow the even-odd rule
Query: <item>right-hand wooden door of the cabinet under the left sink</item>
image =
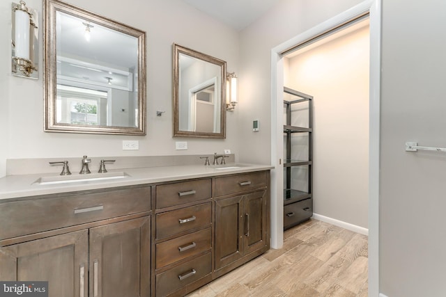
[(150, 219), (90, 230), (90, 296), (150, 296)]

